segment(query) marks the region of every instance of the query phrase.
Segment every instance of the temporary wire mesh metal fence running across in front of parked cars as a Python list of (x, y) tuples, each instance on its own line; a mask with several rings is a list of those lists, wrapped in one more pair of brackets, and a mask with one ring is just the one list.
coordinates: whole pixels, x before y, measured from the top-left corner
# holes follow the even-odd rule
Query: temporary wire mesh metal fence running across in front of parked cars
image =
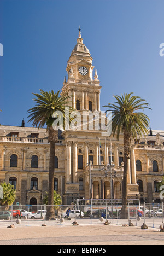
[[(144, 205), (127, 205), (127, 219), (120, 218), (122, 205), (57, 205), (53, 206), (55, 211), (55, 220), (58, 223), (72, 223), (77, 220), (81, 224), (97, 224), (99, 220), (110, 220), (113, 224), (129, 223), (130, 220), (134, 225), (147, 223), (153, 228), (159, 228), (163, 223), (163, 203), (162, 204), (144, 204)], [(37, 224), (37, 221), (46, 222), (46, 205), (19, 205), (19, 206), (0, 206), (0, 226), (4, 222), (17, 222), (20, 220)], [(18, 221), (19, 220), (19, 221)], [(54, 225), (54, 222), (49, 222)]]

